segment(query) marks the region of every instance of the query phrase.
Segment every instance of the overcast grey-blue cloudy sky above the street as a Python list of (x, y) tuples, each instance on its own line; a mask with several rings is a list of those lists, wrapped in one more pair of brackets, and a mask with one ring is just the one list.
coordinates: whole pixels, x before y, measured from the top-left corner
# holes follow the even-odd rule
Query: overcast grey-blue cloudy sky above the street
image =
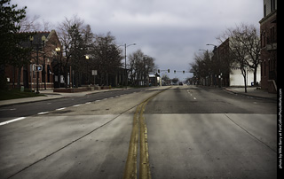
[(40, 16), (54, 28), (77, 15), (95, 34), (108, 31), (119, 44), (137, 43), (127, 53), (141, 49), (155, 58), (160, 69), (170, 68), (170, 78), (180, 80), (189, 71), (194, 53), (212, 51), (216, 37), (240, 23), (259, 27), (263, 0), (12, 0), (28, 7), (28, 16)]

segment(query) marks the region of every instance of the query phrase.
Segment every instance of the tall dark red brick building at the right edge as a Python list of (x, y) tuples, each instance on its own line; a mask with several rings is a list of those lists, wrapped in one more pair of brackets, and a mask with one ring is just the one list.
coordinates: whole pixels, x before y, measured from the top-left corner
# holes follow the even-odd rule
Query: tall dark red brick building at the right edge
[(264, 0), (264, 18), (260, 23), (261, 88), (277, 91), (277, 0)]

